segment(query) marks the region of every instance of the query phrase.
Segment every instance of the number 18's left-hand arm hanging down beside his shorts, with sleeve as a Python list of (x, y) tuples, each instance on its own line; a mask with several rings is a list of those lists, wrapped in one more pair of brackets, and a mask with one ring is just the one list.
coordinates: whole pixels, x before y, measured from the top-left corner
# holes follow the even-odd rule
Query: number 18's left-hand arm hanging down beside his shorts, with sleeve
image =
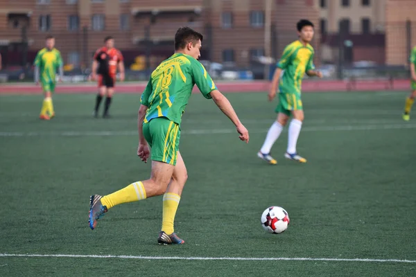
[(139, 156), (141, 161), (144, 161), (145, 163), (147, 163), (148, 157), (150, 155), (150, 150), (148, 143), (143, 135), (143, 123), (144, 118), (146, 117), (147, 109), (150, 105), (148, 99), (152, 91), (152, 78), (150, 78), (146, 89), (144, 89), (144, 92), (141, 94), (140, 108), (139, 112), (137, 113), (137, 131), (139, 132), (139, 147), (137, 148), (137, 156)]

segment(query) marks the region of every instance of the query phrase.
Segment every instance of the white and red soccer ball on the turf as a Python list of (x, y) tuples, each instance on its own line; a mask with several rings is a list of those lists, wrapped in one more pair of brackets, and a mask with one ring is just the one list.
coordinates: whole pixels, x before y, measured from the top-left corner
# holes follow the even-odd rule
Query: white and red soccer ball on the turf
[(283, 233), (288, 229), (289, 215), (284, 208), (271, 206), (261, 215), (261, 226), (270, 233)]

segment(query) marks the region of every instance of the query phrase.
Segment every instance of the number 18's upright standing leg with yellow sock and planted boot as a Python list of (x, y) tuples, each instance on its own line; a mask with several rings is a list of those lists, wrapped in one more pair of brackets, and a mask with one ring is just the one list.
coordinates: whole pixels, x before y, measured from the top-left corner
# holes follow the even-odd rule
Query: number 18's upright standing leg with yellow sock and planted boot
[(171, 182), (163, 197), (162, 231), (160, 231), (159, 237), (157, 238), (159, 244), (184, 244), (184, 240), (181, 240), (174, 233), (173, 222), (175, 221), (177, 207), (179, 206), (180, 195), (182, 195), (182, 190), (187, 179), (187, 168), (178, 151)]

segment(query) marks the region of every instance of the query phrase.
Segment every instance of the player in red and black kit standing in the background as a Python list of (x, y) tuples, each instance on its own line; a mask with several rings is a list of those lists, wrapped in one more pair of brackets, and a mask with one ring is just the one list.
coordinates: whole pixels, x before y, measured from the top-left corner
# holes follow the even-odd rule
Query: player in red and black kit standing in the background
[[(108, 109), (110, 108), (112, 96), (114, 94), (114, 84), (116, 82), (117, 67), (119, 68), (120, 80), (124, 80), (124, 63), (123, 55), (114, 48), (114, 39), (105, 37), (105, 46), (99, 48), (92, 62), (92, 80), (98, 80), (98, 95), (96, 98), (96, 106), (94, 116), (98, 117), (98, 109), (101, 100), (106, 95), (103, 118), (110, 117)], [(98, 73), (98, 76), (97, 76)]]

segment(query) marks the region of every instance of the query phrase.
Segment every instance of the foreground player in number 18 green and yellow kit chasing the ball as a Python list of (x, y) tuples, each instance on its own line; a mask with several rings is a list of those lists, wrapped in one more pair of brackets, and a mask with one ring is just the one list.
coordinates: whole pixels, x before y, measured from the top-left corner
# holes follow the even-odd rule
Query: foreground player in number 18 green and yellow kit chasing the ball
[(202, 95), (212, 99), (236, 126), (241, 141), (248, 142), (248, 131), (241, 124), (232, 105), (216, 88), (204, 66), (198, 62), (202, 35), (191, 28), (179, 28), (175, 35), (175, 53), (153, 71), (138, 115), (139, 147), (142, 161), (152, 160), (150, 179), (136, 181), (110, 195), (90, 197), (89, 227), (108, 209), (122, 203), (164, 195), (162, 231), (159, 244), (183, 244), (175, 235), (173, 221), (187, 181), (187, 168), (179, 152), (180, 123), (194, 84)]

